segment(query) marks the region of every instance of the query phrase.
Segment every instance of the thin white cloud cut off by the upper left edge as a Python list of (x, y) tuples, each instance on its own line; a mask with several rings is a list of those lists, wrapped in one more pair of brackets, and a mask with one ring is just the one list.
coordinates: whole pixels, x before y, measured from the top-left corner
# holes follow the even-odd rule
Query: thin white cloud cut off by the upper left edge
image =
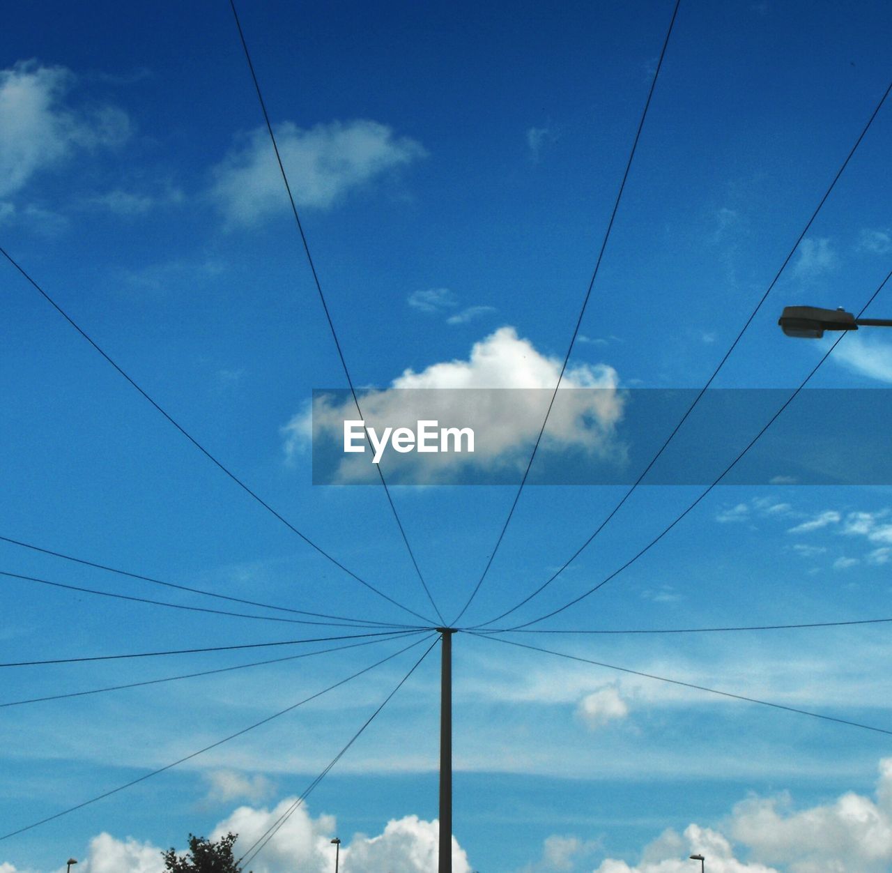
[(20, 191), (38, 170), (78, 148), (120, 145), (129, 136), (128, 117), (120, 109), (67, 106), (74, 83), (65, 67), (35, 61), (0, 70), (0, 197)]

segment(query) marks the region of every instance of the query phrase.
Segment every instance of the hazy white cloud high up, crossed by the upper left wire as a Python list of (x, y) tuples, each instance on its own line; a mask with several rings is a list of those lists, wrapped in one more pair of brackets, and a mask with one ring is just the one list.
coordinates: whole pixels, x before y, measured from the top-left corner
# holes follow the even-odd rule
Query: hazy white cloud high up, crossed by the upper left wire
[[(351, 191), (425, 156), (409, 137), (377, 121), (332, 121), (309, 130), (278, 125), (277, 144), (294, 201), (329, 209)], [(287, 206), (285, 186), (266, 128), (243, 138), (214, 169), (211, 190), (230, 224), (253, 224)]]

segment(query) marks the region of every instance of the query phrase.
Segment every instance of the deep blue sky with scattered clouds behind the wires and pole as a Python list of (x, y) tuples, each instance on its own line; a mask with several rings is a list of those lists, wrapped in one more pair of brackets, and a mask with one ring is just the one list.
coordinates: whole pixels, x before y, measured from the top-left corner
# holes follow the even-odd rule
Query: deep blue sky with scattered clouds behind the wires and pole
[[(358, 386), (443, 387), (458, 372), (475, 387), (553, 385), (672, 11), (662, 2), (244, 5)], [(705, 384), (888, 86), (890, 19), (881, 3), (682, 0), (574, 345), (574, 384)], [(313, 389), (345, 382), (227, 4), (36, 2), (7, 13), (0, 51), (0, 245), (264, 501), (429, 617), (381, 489), (311, 485), (310, 453), (294, 438)], [(890, 112), (877, 115), (717, 387), (796, 387), (829, 345), (783, 337), (781, 307), (857, 312), (887, 275)], [(2, 583), (0, 661), (416, 622), (252, 501), (20, 273), (5, 261), (0, 269), (0, 536), (351, 625), (45, 586), (19, 577), (293, 617), (2, 541), (0, 570), (16, 575)], [(892, 315), (888, 288), (868, 314)], [(484, 386), (493, 373), (499, 385)], [(864, 331), (843, 339), (811, 385), (890, 382), (892, 345)], [(492, 619), (540, 586), (624, 490), (524, 490), (463, 623)], [(640, 488), (516, 618), (537, 619), (598, 584), (701, 492)], [(514, 494), (393, 490), (448, 617), (480, 578)], [(890, 549), (888, 486), (720, 486), (640, 561), (536, 628), (889, 618)], [(892, 729), (887, 627), (505, 636)], [(259, 835), (428, 645), (399, 653), (411, 642), (4, 707), (6, 833), (398, 653), (176, 769), (0, 842), (0, 870), (58, 870), (73, 856), (85, 873), (154, 873), (158, 850), (182, 847), (190, 831)], [(296, 653), (4, 668), (0, 703)], [(887, 736), (468, 634), (456, 638), (454, 669), (457, 871), (674, 873), (691, 869), (691, 852), (720, 873), (892, 869)], [(434, 650), (252, 863), (256, 873), (295, 859), (333, 869), (335, 834), (345, 869), (430, 869), (438, 681)]]

